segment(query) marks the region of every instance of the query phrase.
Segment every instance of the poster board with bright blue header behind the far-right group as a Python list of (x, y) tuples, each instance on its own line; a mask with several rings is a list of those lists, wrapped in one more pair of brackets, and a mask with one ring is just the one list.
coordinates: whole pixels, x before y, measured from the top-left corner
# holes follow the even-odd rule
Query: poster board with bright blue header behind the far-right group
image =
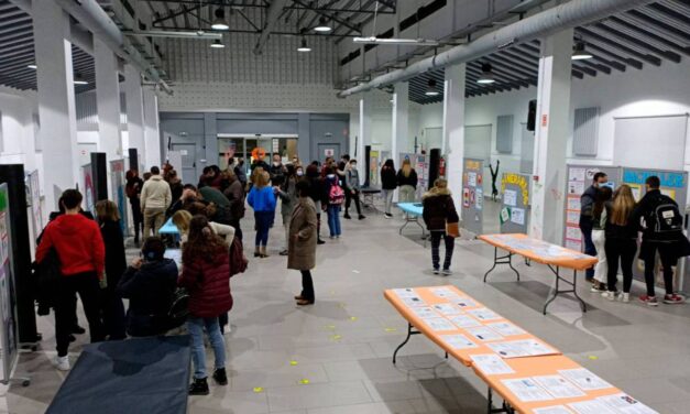
[[(647, 177), (656, 175), (661, 181), (661, 187), (659, 188), (662, 194), (671, 197), (678, 203), (678, 209), (683, 213), (687, 207), (688, 198), (688, 173), (683, 171), (668, 171), (668, 170), (644, 170), (644, 168), (628, 168), (624, 167), (622, 173), (622, 183), (631, 186), (635, 200), (639, 199), (646, 194), (645, 179)], [(637, 250), (639, 253), (639, 249)], [(684, 270), (687, 263), (686, 260), (680, 260), (679, 265), (673, 272), (673, 286), (677, 290), (683, 290), (684, 286)], [(683, 263), (683, 265), (681, 265)], [(657, 254), (656, 265), (656, 284), (657, 286), (664, 286), (664, 276), (660, 272), (660, 261)], [(645, 280), (645, 265), (636, 258), (633, 262), (633, 277), (639, 281)]]

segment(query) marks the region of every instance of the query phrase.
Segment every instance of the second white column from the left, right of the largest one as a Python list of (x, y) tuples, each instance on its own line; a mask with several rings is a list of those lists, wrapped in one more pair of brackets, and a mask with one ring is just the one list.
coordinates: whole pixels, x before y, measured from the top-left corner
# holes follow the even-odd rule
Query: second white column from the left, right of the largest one
[(107, 154), (108, 161), (112, 161), (122, 157), (118, 58), (96, 36), (94, 36), (94, 54), (98, 107), (98, 150)]

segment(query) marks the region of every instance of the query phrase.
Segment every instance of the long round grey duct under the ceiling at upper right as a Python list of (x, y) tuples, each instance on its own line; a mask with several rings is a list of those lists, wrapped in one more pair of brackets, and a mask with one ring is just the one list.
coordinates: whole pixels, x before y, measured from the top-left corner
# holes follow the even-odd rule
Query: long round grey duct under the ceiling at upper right
[(456, 46), (438, 55), (416, 62), (404, 69), (377, 76), (365, 84), (346, 89), (339, 92), (338, 96), (344, 98), (384, 85), (404, 81), (435, 68), (470, 62), (494, 53), (507, 45), (530, 42), (558, 33), (565, 29), (587, 24), (591, 21), (651, 2), (654, 0), (571, 0), (488, 33), (466, 45)]

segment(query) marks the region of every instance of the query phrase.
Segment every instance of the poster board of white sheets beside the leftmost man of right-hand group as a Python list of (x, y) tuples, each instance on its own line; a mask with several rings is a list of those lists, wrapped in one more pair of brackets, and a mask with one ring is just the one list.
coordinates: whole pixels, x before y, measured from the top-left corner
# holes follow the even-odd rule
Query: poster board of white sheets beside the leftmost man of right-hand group
[(563, 246), (568, 249), (584, 251), (584, 241), (580, 231), (580, 196), (592, 184), (594, 174), (602, 172), (609, 176), (609, 183), (615, 190), (621, 185), (621, 167), (611, 165), (568, 165), (566, 174), (566, 195), (563, 226)]

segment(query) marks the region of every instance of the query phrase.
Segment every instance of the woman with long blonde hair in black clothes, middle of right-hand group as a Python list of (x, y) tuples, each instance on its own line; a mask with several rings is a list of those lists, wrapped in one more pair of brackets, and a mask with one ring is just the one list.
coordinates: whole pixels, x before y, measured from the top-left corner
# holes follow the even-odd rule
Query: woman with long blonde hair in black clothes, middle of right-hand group
[(606, 262), (609, 264), (607, 292), (602, 296), (614, 301), (618, 296), (616, 290), (618, 260), (623, 272), (622, 302), (629, 302), (631, 286), (633, 284), (633, 261), (637, 251), (637, 224), (631, 218), (635, 209), (635, 198), (631, 187), (623, 184), (616, 192), (613, 203), (606, 204)]

